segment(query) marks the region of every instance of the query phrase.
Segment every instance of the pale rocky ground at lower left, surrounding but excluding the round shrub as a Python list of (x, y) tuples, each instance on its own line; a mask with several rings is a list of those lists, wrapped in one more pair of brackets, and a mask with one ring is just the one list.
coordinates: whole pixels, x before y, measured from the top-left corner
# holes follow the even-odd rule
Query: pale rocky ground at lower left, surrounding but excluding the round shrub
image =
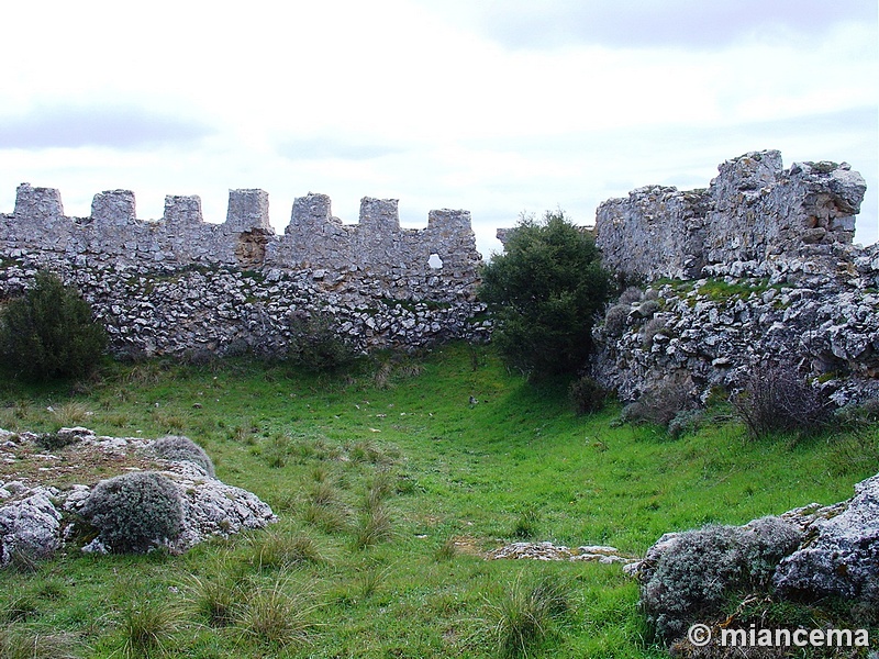
[[(151, 455), (152, 444), (101, 437), (81, 427), (52, 435), (0, 429), (0, 565), (76, 546), (89, 535), (78, 512), (91, 489), (132, 471), (156, 471), (179, 489), (183, 522), (179, 537), (166, 543), (173, 552), (277, 521), (255, 494), (209, 476), (194, 461), (157, 458)], [(108, 550), (99, 537), (84, 549)]]

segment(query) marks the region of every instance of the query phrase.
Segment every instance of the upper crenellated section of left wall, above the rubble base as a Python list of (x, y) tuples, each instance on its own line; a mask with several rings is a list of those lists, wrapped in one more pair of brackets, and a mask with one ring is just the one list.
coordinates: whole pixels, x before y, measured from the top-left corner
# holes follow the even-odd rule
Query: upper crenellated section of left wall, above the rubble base
[(477, 280), (481, 256), (467, 211), (431, 211), (426, 228), (401, 228), (396, 199), (364, 198), (359, 223), (346, 225), (332, 215), (329, 197), (309, 193), (276, 235), (268, 203), (263, 190), (230, 190), (225, 222), (212, 224), (199, 197), (168, 196), (164, 216), (151, 221), (137, 217), (132, 191), (109, 190), (94, 196), (89, 217), (69, 217), (58, 190), (22, 183), (14, 211), (0, 214), (0, 242), (5, 250), (116, 266), (363, 270), (388, 284), (430, 273), (469, 289)]

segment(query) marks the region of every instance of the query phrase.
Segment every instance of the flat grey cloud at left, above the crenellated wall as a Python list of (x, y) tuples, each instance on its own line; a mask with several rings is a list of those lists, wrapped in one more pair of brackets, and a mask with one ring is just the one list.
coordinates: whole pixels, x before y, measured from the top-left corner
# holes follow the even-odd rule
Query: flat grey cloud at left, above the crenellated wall
[(133, 148), (192, 142), (213, 130), (198, 120), (138, 105), (46, 105), (0, 116), (0, 148)]

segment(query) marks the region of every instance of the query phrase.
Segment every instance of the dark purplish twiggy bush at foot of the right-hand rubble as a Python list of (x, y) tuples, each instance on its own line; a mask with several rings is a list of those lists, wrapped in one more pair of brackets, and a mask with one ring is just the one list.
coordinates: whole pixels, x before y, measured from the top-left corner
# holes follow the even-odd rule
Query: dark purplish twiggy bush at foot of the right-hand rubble
[(791, 365), (756, 366), (733, 407), (753, 438), (772, 433), (811, 434), (833, 418), (833, 403)]

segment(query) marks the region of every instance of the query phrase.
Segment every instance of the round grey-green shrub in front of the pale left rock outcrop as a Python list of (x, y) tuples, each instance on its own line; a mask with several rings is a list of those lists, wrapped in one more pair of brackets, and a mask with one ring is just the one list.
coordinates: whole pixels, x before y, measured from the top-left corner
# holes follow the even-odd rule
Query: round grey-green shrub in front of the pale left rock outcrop
[(81, 512), (114, 552), (143, 554), (176, 539), (182, 530), (180, 492), (155, 471), (133, 471), (99, 482)]

